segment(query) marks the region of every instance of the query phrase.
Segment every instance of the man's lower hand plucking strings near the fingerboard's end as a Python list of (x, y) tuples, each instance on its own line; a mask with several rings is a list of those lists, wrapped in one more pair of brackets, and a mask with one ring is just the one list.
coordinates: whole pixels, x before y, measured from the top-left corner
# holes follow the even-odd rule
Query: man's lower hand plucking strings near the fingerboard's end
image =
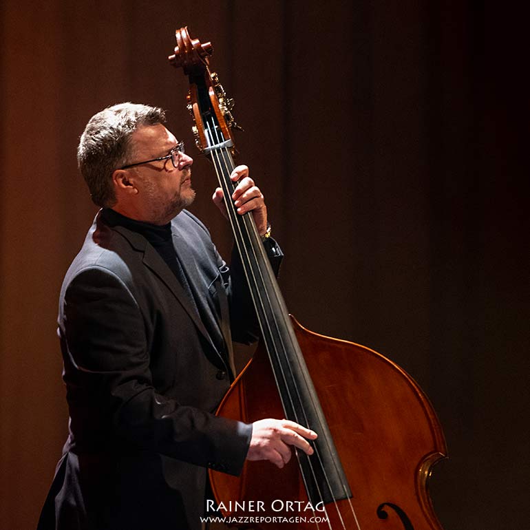
[(255, 421), (252, 424), (251, 445), (248, 447), (247, 460), (269, 460), (280, 469), (291, 457), (290, 445), (298, 447), (304, 453), (313, 454), (306, 440), (315, 440), (317, 433), (289, 420)]

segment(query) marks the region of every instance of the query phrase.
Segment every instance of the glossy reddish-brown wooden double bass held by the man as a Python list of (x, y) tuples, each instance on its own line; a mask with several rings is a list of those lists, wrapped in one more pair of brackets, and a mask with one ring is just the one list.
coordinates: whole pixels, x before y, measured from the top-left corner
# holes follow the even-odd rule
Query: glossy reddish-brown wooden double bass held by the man
[[(210, 70), (211, 43), (191, 39), (187, 28), (176, 41), (169, 62), (189, 77), (195, 143), (229, 197), (233, 101)], [(246, 461), (239, 477), (210, 470), (226, 522), (263, 530), (440, 530), (427, 480), (447, 448), (429, 399), (383, 355), (298, 324), (252, 216), (238, 215), (232, 201), (226, 209), (262, 339), (217, 414), (246, 423), (287, 418), (319, 435), (311, 456), (295, 450), (283, 469)]]

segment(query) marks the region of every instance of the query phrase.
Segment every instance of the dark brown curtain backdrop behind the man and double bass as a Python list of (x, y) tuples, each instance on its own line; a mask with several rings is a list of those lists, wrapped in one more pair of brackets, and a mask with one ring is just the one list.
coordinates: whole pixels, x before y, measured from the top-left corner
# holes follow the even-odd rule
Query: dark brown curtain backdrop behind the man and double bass
[[(291, 312), (379, 350), (430, 396), (449, 445), (430, 483), (445, 530), (527, 526), (527, 12), (469, 0), (0, 10), (2, 529), (35, 526), (67, 432), (57, 299), (96, 211), (78, 136), (131, 100), (168, 109), (192, 145), (187, 82), (166, 59), (185, 24), (213, 42), (236, 100)], [(195, 161), (193, 211), (226, 254), (212, 171)]]

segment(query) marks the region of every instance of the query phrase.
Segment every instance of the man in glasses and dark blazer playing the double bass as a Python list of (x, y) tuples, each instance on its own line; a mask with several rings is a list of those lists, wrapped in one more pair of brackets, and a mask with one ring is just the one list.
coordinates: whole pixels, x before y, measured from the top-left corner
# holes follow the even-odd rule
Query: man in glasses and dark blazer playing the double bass
[[(193, 160), (161, 109), (123, 103), (93, 116), (78, 164), (100, 206), (66, 273), (59, 304), (70, 436), (39, 529), (199, 529), (207, 468), (237, 475), (245, 459), (283, 467), (316, 434), (291, 421), (245, 424), (213, 414), (234, 377), (232, 341), (257, 339), (237, 253), (231, 268), (186, 210)], [(262, 193), (238, 166), (223, 211)], [(282, 253), (263, 238), (277, 271)]]

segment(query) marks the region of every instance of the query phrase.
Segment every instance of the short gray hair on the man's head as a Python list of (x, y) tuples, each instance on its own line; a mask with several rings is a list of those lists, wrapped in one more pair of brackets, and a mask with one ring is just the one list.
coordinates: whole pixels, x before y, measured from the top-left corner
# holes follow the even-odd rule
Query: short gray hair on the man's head
[(162, 109), (138, 103), (112, 105), (90, 118), (79, 140), (77, 162), (98, 206), (116, 204), (112, 173), (129, 162), (134, 131), (142, 125), (158, 125), (165, 120)]

